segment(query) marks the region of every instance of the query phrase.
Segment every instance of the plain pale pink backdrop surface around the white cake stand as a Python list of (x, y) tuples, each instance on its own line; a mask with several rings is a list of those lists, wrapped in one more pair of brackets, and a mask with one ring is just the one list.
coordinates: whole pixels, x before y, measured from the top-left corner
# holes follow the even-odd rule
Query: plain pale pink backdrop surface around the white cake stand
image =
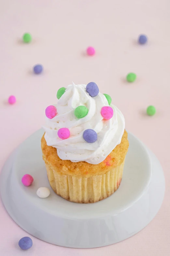
[[(45, 108), (56, 102), (60, 87), (95, 81), (112, 96), (126, 120), (126, 129), (159, 158), (165, 178), (163, 205), (154, 220), (134, 237), (108, 247), (69, 249), (42, 242), (21, 251), (27, 235), (0, 205), (0, 255), (31, 256), (161, 256), (170, 243), (170, 5), (169, 0), (1, 0), (0, 1), (0, 167), (24, 139), (44, 123)], [(30, 32), (31, 44), (21, 36)], [(146, 33), (149, 43), (136, 39)], [(84, 50), (92, 45), (94, 57)], [(32, 67), (44, 66), (36, 76)], [(135, 72), (133, 84), (125, 81)], [(17, 104), (9, 106), (10, 94)], [(157, 113), (148, 117), (148, 105)]]

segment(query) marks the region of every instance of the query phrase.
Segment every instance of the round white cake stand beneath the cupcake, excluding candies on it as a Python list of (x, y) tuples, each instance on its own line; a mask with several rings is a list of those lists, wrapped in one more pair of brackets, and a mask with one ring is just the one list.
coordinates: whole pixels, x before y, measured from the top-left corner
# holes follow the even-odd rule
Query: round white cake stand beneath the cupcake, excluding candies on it
[[(93, 248), (118, 243), (146, 227), (161, 207), (165, 182), (155, 155), (128, 133), (123, 179), (110, 197), (94, 204), (78, 204), (57, 196), (50, 188), (42, 160), (42, 130), (26, 139), (8, 158), (0, 177), (0, 193), (11, 218), (31, 235), (51, 244)], [(24, 174), (34, 177), (30, 187)], [(50, 188), (39, 198), (39, 187)]]

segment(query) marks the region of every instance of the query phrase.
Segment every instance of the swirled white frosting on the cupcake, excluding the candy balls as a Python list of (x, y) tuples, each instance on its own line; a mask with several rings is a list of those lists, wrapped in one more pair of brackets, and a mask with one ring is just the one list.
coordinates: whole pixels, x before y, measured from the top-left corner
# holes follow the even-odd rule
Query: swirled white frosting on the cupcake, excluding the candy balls
[[(78, 106), (88, 108), (88, 114), (83, 118), (76, 118), (74, 110)], [(91, 164), (98, 164), (105, 160), (110, 152), (121, 142), (124, 133), (125, 121), (122, 113), (114, 105), (113, 117), (104, 120), (101, 109), (108, 106), (105, 95), (99, 93), (91, 97), (86, 92), (86, 85), (69, 85), (65, 93), (54, 105), (57, 115), (49, 119), (46, 117), (45, 140), (47, 145), (57, 148), (57, 154), (62, 160), (71, 162), (85, 161)], [(60, 128), (68, 128), (70, 137), (62, 140), (57, 132)], [(86, 129), (93, 129), (97, 133), (97, 140), (94, 143), (87, 143), (83, 139), (83, 132)]]

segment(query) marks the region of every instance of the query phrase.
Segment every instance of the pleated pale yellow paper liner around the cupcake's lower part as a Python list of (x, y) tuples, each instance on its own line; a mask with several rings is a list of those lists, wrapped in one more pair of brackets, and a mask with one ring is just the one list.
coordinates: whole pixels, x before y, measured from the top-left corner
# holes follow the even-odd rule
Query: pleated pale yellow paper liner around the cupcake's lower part
[(50, 186), (57, 195), (71, 202), (95, 203), (110, 196), (119, 188), (124, 161), (106, 174), (91, 177), (64, 175), (53, 170), (47, 163), (46, 169)]

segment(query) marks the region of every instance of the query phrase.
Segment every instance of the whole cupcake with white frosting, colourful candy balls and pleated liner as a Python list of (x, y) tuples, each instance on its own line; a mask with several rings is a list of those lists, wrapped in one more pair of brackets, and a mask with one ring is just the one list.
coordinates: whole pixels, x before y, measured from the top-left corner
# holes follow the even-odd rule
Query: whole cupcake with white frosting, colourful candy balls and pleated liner
[(50, 186), (71, 202), (103, 200), (122, 179), (129, 146), (124, 117), (94, 82), (62, 87), (57, 98), (45, 111), (41, 139)]

